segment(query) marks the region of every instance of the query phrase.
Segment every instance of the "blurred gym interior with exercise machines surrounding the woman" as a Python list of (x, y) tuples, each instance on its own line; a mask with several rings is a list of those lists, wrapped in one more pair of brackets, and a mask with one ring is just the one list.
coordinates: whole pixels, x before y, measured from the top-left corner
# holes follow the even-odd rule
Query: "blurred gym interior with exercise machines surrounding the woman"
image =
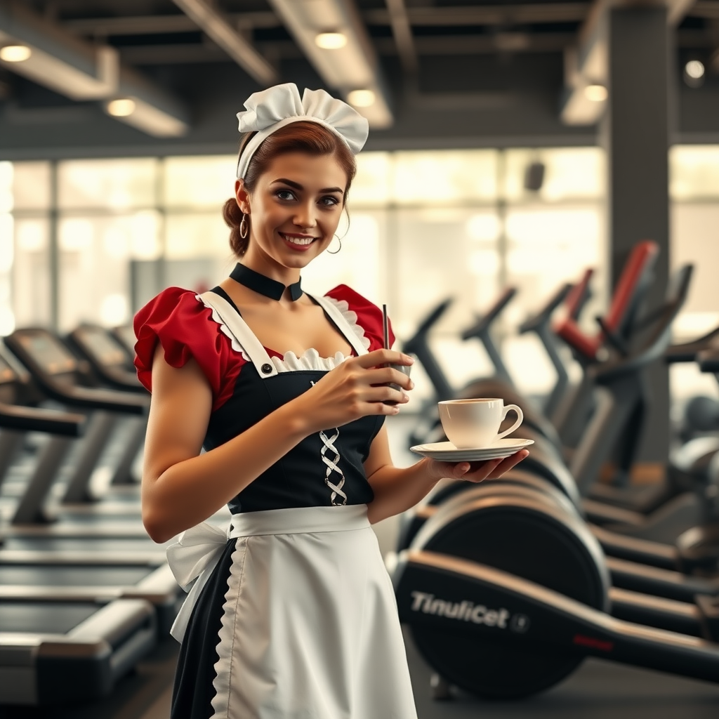
[(278, 83), (369, 121), (302, 280), (416, 358), (395, 464), (452, 398), (533, 441), (375, 525), (418, 717), (715, 718), (717, 0), (0, 0), (0, 715), (170, 715), (132, 320), (232, 270)]

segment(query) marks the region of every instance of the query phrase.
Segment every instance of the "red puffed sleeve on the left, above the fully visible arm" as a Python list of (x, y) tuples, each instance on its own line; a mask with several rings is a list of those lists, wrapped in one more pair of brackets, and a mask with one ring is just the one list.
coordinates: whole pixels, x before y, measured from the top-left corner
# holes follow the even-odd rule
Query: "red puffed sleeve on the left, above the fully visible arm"
[(212, 411), (232, 396), (246, 360), (232, 349), (229, 338), (212, 319), (211, 308), (196, 293), (178, 287), (162, 290), (137, 312), (134, 331), (134, 365), (148, 390), (152, 391), (152, 359), (160, 342), (171, 367), (182, 367), (190, 357), (196, 359), (212, 388)]

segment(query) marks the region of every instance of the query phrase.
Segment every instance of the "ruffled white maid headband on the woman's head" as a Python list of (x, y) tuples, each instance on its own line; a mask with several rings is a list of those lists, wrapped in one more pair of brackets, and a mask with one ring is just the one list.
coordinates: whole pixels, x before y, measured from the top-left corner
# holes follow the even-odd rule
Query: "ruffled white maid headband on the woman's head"
[(254, 132), (237, 160), (237, 178), (247, 173), (249, 161), (262, 141), (280, 127), (305, 120), (318, 122), (330, 129), (357, 155), (367, 141), (370, 132), (367, 119), (342, 100), (337, 100), (324, 90), (308, 90), (302, 93), (295, 83), (275, 85), (252, 93), (244, 103), (247, 110), (237, 113), (239, 132)]

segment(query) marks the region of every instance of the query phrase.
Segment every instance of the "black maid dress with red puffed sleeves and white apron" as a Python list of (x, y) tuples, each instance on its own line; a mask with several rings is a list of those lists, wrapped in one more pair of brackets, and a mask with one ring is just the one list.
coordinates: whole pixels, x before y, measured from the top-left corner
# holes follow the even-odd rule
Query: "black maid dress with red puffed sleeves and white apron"
[[(353, 355), (383, 346), (380, 310), (354, 290), (308, 297)], [(194, 357), (208, 378), (206, 451), (347, 359), (262, 347), (219, 287), (164, 290), (134, 329), (148, 389), (157, 342), (168, 364)], [(189, 592), (172, 630), (181, 646), (171, 719), (416, 719), (393, 587), (367, 519), (363, 462), (383, 421), (311, 434), (232, 499), (229, 527), (201, 523), (168, 548)]]

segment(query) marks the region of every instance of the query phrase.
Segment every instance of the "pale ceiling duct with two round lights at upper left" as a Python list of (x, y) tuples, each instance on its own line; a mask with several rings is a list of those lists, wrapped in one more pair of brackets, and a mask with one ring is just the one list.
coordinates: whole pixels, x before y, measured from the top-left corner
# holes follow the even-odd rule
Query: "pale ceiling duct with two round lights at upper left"
[(155, 137), (178, 137), (188, 129), (183, 105), (123, 68), (113, 47), (78, 40), (20, 3), (0, 3), (0, 45), (27, 48), (24, 60), (1, 65), (72, 100), (103, 100), (106, 111), (111, 101), (127, 100), (127, 114), (114, 114), (120, 122)]

